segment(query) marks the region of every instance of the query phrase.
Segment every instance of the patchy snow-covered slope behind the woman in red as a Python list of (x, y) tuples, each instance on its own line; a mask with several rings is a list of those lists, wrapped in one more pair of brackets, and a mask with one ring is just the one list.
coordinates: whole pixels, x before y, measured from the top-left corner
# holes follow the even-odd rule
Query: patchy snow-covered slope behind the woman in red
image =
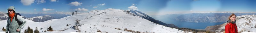
[[(222, 32), (225, 30), (225, 25), (227, 25), (227, 23), (224, 23), (222, 25), (208, 26), (205, 28), (205, 30)], [(256, 32), (256, 15), (253, 14), (237, 16), (236, 25), (238, 32)]]

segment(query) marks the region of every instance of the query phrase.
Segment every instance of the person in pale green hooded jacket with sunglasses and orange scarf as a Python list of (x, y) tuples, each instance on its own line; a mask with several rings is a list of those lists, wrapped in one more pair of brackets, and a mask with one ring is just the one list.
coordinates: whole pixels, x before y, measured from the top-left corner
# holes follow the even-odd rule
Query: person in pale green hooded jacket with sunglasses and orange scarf
[[(24, 28), (25, 24), (26, 24), (26, 20), (24, 18), (22, 18), (20, 15), (16, 15), (15, 13), (15, 8), (13, 6), (10, 6), (9, 8), (7, 8), (8, 10), (8, 20), (7, 20), (7, 25), (6, 25), (6, 33), (20, 33), (20, 30), (22, 28)], [(20, 21), (20, 23), (18, 23), (15, 20), (15, 17), (17, 17), (17, 20)], [(19, 25), (21, 24), (21, 25)]]

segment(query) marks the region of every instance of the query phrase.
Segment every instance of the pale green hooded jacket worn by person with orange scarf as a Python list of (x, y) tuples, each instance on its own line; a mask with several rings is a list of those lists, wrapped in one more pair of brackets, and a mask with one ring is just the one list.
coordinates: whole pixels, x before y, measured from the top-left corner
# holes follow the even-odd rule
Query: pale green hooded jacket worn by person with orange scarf
[[(14, 13), (15, 13), (15, 8), (13, 6), (9, 7), (8, 9), (14, 10)], [(9, 16), (9, 13), (7, 13), (7, 15)], [(9, 33), (20, 33), (21, 29), (24, 28), (24, 26), (26, 24), (26, 20), (24, 18), (22, 18), (21, 16), (17, 15), (17, 19), (22, 23), (21, 25), (19, 25), (19, 23), (15, 20), (15, 17), (16, 17), (16, 13), (12, 19), (12, 22), (11, 22), (11, 17), (10, 16), (8, 17), (7, 25), (6, 25), (6, 32), (9, 31)], [(19, 29), (20, 31), (16, 31), (17, 29)]]

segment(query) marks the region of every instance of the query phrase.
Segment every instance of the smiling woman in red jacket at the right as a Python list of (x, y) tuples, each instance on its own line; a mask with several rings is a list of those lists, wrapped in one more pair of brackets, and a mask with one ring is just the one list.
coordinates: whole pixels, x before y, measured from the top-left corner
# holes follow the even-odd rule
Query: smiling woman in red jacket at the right
[(234, 13), (228, 17), (225, 33), (237, 33), (236, 15)]

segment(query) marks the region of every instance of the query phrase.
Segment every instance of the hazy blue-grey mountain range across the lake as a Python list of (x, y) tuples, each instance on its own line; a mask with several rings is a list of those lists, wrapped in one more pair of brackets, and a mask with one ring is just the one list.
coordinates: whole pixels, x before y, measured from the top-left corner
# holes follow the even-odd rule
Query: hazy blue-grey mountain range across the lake
[[(159, 19), (161, 21), (168, 21), (165, 19), (177, 20), (177, 21), (185, 21), (185, 22), (196, 22), (196, 23), (204, 23), (204, 22), (226, 22), (228, 17), (232, 13), (190, 13), (190, 14), (166, 14), (160, 16)], [(241, 15), (251, 15), (256, 13), (234, 13), (236, 16)]]

